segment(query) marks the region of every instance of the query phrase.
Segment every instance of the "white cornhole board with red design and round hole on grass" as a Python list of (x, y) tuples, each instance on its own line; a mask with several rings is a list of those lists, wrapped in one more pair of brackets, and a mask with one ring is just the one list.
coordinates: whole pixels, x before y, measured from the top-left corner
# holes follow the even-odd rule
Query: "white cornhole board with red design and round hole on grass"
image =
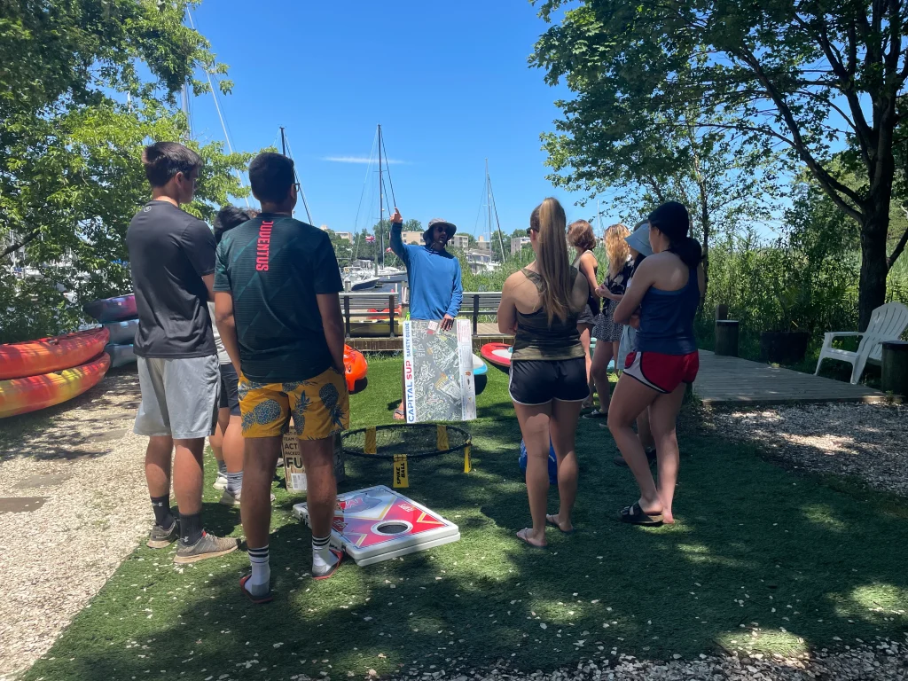
[[(293, 514), (309, 525), (306, 504)], [(331, 546), (365, 567), (458, 541), (457, 525), (384, 485), (338, 495)]]

